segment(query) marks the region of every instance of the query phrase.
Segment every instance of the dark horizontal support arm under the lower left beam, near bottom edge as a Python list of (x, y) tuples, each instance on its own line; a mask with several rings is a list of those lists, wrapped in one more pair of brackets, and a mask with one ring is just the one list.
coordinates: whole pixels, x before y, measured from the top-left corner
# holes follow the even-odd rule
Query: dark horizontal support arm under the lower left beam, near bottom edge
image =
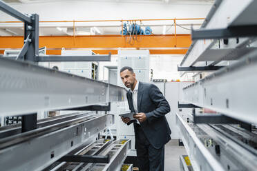
[(91, 155), (65, 155), (58, 160), (59, 162), (84, 162), (84, 163), (108, 163), (110, 156), (91, 156)]

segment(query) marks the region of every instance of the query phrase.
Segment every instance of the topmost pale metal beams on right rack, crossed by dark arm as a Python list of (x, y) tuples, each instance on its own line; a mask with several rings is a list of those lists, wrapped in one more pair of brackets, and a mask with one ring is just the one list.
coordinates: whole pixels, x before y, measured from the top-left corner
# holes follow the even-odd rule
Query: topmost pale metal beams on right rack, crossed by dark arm
[[(256, 1), (216, 1), (205, 19), (201, 29), (208, 30), (213, 28), (228, 28), (229, 26), (249, 26), (256, 25), (254, 19), (254, 7)], [(227, 10), (230, 9), (230, 10)], [(256, 9), (256, 8), (255, 8)], [(236, 43), (229, 45), (220, 44), (218, 39), (204, 39), (193, 41), (180, 66), (205, 66), (201, 61), (227, 61), (237, 60), (242, 54), (251, 52), (247, 45), (254, 41), (255, 38), (229, 39)], [(196, 65), (196, 64), (200, 65)], [(184, 72), (183, 72), (184, 73)]]

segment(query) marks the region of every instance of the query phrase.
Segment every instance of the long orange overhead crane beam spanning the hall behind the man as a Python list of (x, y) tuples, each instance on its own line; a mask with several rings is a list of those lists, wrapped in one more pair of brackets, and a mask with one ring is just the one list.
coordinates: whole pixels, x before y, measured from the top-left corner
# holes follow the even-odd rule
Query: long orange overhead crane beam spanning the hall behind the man
[[(61, 48), (155, 48), (152, 52), (167, 52), (180, 54), (184, 50), (162, 50), (158, 48), (189, 48), (191, 45), (190, 34), (176, 34), (177, 43), (173, 34), (165, 35), (138, 35), (137, 40), (129, 41), (129, 36), (120, 35), (95, 35), (95, 36), (49, 36), (39, 37), (39, 47), (47, 49)], [(130, 42), (130, 43), (128, 43)], [(0, 48), (22, 48), (23, 37), (0, 37)], [(110, 52), (111, 50), (108, 50)]]

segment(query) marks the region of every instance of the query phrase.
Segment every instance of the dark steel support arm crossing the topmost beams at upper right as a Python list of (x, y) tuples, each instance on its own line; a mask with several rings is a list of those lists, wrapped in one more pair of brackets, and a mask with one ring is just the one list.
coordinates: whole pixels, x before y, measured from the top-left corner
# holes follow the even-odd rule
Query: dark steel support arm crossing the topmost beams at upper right
[(257, 26), (233, 26), (224, 29), (192, 30), (192, 40), (225, 39), (231, 37), (256, 37)]

